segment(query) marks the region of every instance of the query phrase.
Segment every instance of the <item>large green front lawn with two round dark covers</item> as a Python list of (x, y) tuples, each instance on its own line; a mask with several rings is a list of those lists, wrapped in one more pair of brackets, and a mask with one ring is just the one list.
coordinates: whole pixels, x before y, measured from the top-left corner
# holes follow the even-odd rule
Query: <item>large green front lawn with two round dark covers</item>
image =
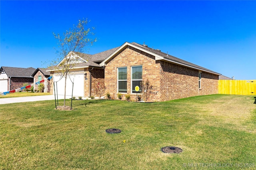
[[(218, 94), (157, 103), (73, 100), (72, 111), (55, 110), (54, 101), (4, 104), (0, 169), (255, 167), (253, 97)], [(122, 132), (108, 134), (109, 128)], [(183, 152), (161, 152), (166, 146)]]

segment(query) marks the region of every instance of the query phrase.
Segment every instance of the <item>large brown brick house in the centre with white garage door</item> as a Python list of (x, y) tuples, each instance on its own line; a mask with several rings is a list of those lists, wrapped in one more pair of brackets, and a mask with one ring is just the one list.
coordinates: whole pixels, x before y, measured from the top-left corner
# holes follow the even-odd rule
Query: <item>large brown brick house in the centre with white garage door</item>
[[(147, 45), (126, 42), (120, 47), (95, 55), (70, 52), (68, 56), (80, 60), (70, 76), (70, 80), (74, 80), (73, 96), (96, 96), (97, 84), (104, 84), (105, 94), (109, 92), (113, 98), (117, 98), (118, 92), (130, 94), (134, 100), (134, 87), (140, 86), (140, 81), (147, 79), (153, 86), (148, 100), (151, 102), (218, 94), (221, 74)], [(60, 79), (56, 70), (48, 71), (51, 71), (54, 81)], [(64, 80), (59, 80), (57, 84), (58, 94), (63, 94)], [(67, 83), (67, 95), (71, 93), (72, 83)]]

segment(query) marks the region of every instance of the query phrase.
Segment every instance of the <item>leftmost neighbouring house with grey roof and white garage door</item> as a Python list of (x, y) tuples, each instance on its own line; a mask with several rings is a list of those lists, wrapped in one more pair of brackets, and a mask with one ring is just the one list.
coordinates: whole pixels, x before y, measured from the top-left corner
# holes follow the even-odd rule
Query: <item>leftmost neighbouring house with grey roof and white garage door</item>
[(33, 84), (32, 74), (36, 68), (6, 67), (0, 68), (0, 92), (21, 88), (24, 83)]

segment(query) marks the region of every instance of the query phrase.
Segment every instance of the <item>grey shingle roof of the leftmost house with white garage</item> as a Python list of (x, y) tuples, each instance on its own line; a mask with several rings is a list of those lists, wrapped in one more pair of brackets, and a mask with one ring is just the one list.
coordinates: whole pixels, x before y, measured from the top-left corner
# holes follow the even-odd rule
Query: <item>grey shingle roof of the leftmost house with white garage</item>
[(1, 70), (4, 70), (9, 77), (30, 77), (36, 70), (36, 68), (18, 68), (18, 67), (6, 67), (2, 66)]

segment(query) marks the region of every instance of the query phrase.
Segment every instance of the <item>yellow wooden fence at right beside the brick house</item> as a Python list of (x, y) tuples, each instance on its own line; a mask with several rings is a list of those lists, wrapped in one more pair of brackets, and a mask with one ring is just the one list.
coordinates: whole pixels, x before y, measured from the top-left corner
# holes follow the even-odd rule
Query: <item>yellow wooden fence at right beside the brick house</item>
[(256, 95), (256, 80), (219, 80), (219, 94)]

